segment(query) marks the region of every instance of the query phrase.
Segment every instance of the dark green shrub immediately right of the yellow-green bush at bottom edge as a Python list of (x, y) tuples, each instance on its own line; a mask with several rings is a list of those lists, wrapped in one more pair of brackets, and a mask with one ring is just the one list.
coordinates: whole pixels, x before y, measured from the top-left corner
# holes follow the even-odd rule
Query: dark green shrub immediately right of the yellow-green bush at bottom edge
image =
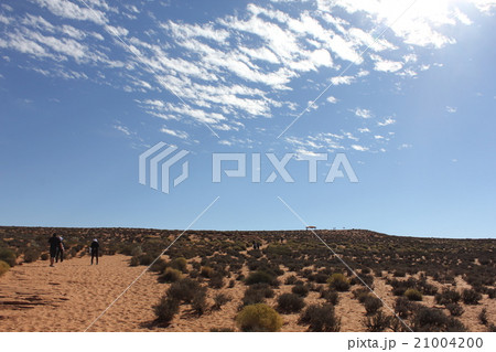
[(309, 306), (300, 316), (299, 323), (309, 324), (309, 331), (315, 332), (337, 332), (341, 329), (341, 319), (330, 303)]

